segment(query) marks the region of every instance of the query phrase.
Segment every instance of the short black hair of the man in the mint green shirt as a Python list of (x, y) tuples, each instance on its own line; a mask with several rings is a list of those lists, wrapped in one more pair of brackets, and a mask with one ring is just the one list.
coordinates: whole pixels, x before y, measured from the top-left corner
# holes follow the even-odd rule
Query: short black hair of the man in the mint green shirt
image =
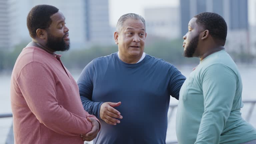
[(196, 16), (196, 23), (203, 26), (205, 30), (209, 30), (210, 35), (219, 40), (222, 46), (225, 45), (227, 37), (227, 23), (222, 16), (216, 13), (203, 12)]

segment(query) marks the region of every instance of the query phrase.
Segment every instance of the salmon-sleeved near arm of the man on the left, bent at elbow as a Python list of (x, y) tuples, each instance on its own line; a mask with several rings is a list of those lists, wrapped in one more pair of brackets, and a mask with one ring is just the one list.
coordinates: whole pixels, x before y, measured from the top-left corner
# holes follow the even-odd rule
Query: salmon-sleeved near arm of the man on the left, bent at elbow
[(54, 76), (42, 64), (32, 62), (26, 65), (17, 78), (17, 84), (31, 112), (47, 128), (69, 136), (79, 136), (91, 130), (92, 124), (87, 117), (92, 116), (81, 117), (59, 105)]

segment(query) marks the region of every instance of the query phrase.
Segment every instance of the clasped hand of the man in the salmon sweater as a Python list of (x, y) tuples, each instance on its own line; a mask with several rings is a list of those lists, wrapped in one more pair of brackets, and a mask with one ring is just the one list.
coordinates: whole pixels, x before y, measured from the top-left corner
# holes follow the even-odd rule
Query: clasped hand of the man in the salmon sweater
[(91, 117), (87, 117), (87, 120), (92, 123), (92, 130), (89, 131), (87, 134), (81, 134), (81, 137), (83, 138), (84, 141), (92, 141), (94, 138), (96, 138), (99, 132), (100, 124), (97, 120)]

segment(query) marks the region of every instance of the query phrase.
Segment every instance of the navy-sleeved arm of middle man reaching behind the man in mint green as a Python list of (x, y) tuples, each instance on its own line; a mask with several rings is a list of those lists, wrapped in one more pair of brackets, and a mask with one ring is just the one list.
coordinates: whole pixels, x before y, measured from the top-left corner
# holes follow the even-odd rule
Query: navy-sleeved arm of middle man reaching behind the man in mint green
[(180, 88), (186, 80), (186, 77), (182, 75), (175, 66), (170, 68), (169, 74), (171, 75), (169, 81), (169, 95), (179, 100)]

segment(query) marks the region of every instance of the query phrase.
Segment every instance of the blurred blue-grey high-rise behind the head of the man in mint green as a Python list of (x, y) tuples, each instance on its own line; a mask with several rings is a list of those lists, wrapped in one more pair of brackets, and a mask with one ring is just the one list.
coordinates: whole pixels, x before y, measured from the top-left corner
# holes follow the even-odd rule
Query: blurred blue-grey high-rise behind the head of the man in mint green
[(215, 12), (225, 19), (228, 26), (227, 51), (251, 52), (247, 0), (180, 0), (182, 35), (188, 31), (189, 20), (201, 12)]

